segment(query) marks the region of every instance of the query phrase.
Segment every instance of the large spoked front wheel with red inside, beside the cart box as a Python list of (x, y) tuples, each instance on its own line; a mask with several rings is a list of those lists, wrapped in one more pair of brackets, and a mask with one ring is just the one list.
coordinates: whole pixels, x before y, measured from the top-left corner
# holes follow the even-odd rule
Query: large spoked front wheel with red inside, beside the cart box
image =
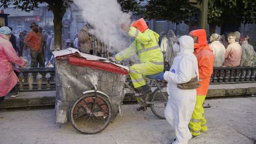
[(69, 121), (83, 134), (95, 134), (104, 130), (113, 116), (112, 106), (105, 95), (81, 94), (70, 105)]

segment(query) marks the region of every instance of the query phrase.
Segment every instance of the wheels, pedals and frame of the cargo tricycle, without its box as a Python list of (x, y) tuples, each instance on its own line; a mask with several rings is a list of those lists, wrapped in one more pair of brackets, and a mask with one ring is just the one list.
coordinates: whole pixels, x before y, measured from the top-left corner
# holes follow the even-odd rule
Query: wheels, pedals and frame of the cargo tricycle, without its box
[[(149, 94), (149, 100), (143, 102), (150, 105), (150, 109), (154, 115), (160, 119), (165, 119), (164, 109), (167, 104), (166, 86), (162, 83), (162, 79), (145, 78), (149, 84), (150, 89), (156, 86), (152, 94)], [(131, 87), (129, 81), (125, 85), (135, 93), (134, 87)], [(85, 91), (71, 103), (68, 111), (69, 121), (78, 132), (83, 134), (95, 134), (103, 131), (108, 124), (113, 120), (114, 107), (111, 105), (110, 98), (102, 91), (97, 90)], [(119, 112), (121, 107), (119, 107)]]

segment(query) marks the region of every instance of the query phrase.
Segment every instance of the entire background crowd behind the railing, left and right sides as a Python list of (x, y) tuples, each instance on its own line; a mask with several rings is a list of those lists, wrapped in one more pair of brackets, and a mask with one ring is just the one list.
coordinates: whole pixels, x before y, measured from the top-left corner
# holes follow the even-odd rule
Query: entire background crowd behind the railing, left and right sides
[[(17, 37), (11, 33), (10, 42), (19, 57), (28, 60), (27, 67), (47, 67), (47, 63), (53, 63), (54, 33), (43, 30), (35, 22), (31, 23), (30, 28), (29, 32), (20, 31)], [(102, 43), (89, 33), (91, 28), (93, 28), (91, 25), (85, 25), (73, 39), (65, 39), (62, 36), (61, 49), (73, 47), (84, 53), (106, 57), (102, 54)], [(162, 31), (160, 36), (159, 45), (164, 55), (165, 66), (171, 66), (177, 55), (177, 52), (173, 50), (173, 45), (178, 42), (178, 37), (172, 30), (169, 30), (167, 34)], [(250, 37), (247, 35), (241, 37), (238, 31), (222, 36), (212, 34), (208, 42), (215, 57), (214, 67), (250, 67), (255, 65), (256, 53), (250, 44)], [(95, 47), (97, 47), (97, 52), (93, 53)]]

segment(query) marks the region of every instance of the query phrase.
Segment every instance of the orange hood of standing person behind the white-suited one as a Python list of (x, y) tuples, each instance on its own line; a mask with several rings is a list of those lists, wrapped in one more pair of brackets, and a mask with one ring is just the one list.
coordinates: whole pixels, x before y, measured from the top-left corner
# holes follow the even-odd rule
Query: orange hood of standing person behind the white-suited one
[(190, 31), (189, 35), (198, 37), (198, 43), (194, 43), (195, 49), (207, 45), (207, 38), (204, 29)]

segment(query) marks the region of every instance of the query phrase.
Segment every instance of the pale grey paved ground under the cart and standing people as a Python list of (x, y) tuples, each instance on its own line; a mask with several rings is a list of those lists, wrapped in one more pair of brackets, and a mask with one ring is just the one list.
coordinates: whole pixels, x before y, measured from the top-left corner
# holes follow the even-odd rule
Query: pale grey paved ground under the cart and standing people
[[(210, 99), (209, 131), (188, 143), (256, 143), (256, 97)], [(123, 115), (99, 134), (77, 133), (71, 124), (54, 124), (54, 109), (1, 109), (0, 143), (171, 143), (174, 130), (150, 109), (124, 105)]]

